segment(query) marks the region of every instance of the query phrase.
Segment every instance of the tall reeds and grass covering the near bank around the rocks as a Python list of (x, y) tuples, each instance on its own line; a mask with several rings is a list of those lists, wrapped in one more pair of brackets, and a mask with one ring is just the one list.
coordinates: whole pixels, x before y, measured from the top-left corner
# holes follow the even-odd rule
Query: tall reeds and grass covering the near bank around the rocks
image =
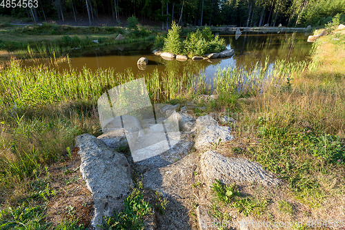
[[(0, 226), (20, 228), (20, 223), (27, 222), (27, 229), (50, 227), (46, 202), (59, 196), (59, 191), (52, 189), (46, 166), (71, 160), (77, 135), (100, 134), (98, 97), (139, 77), (144, 77), (152, 102), (184, 103), (216, 93), (217, 99), (197, 103), (206, 107), (203, 113), (239, 115), (234, 117), (234, 146), (222, 144), (216, 146), (217, 151), (249, 157), (288, 185), (284, 199), (278, 200), (274, 195), (245, 195), (243, 186), (236, 190), (217, 182), (213, 186), (217, 202), (262, 220), (305, 220), (299, 209), (310, 210), (308, 218), (337, 219), (335, 213), (344, 205), (345, 191), (344, 39), (342, 31), (318, 39), (310, 62), (277, 61), (273, 68), (257, 64), (249, 71), (234, 66), (218, 70), (213, 88), (206, 86), (204, 76), (195, 77), (188, 70), (181, 76), (174, 71), (134, 76), (130, 71), (92, 72), (87, 68), (59, 73), (12, 60), (0, 72)], [(250, 132), (243, 127), (250, 127)], [(72, 169), (65, 172), (63, 186), (79, 180)], [(44, 182), (39, 182), (39, 175), (46, 175)], [(155, 209), (164, 211), (166, 200), (156, 196), (159, 204)], [(137, 189), (126, 204), (130, 218), (117, 213), (109, 219), (111, 224), (141, 224), (131, 200), (146, 213), (148, 206)], [(66, 213), (73, 215), (73, 207)], [(228, 219), (217, 207), (213, 213)], [(66, 218), (52, 228), (82, 229), (79, 225), (77, 219)]]

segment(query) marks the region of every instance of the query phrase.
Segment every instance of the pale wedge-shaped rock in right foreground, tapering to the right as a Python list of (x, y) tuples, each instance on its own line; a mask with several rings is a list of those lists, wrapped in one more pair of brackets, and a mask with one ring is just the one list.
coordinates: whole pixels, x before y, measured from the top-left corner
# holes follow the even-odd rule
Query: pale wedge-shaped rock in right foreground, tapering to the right
[(207, 151), (201, 155), (200, 168), (208, 186), (215, 183), (215, 179), (224, 184), (233, 182), (255, 182), (264, 186), (281, 184), (279, 179), (265, 171), (260, 164), (242, 158), (224, 157), (215, 151)]

